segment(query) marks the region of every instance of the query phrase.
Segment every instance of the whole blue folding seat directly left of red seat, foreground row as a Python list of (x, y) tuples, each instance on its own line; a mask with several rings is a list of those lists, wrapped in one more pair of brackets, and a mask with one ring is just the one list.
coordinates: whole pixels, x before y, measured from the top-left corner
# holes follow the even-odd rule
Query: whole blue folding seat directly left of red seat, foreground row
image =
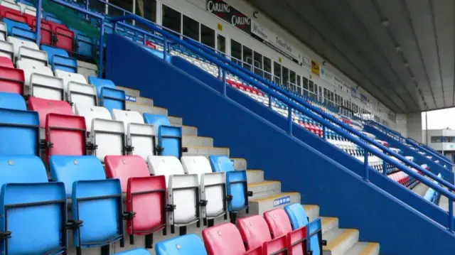
[(73, 243), (81, 249), (101, 247), (109, 254), (109, 244), (123, 241), (122, 188), (117, 179), (106, 179), (102, 164), (94, 156), (51, 156), (50, 175), (65, 183), (71, 198)]

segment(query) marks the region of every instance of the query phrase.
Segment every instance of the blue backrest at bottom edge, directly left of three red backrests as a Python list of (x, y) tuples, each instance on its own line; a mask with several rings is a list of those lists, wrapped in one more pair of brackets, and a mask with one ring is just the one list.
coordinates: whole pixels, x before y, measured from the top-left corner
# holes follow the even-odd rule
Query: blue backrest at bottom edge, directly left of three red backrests
[(186, 234), (159, 242), (156, 255), (207, 255), (202, 240), (196, 234)]

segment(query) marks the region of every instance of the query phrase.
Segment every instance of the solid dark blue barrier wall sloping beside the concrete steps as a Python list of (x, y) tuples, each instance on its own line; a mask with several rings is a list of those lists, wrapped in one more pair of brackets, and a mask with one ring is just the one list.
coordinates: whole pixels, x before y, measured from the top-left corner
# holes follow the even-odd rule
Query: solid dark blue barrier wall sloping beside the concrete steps
[[(321, 206), (322, 215), (340, 217), (341, 227), (358, 228), (361, 240), (380, 242), (381, 254), (448, 254), (455, 249), (453, 234), (376, 186), (387, 178), (372, 173), (372, 183), (366, 183), (356, 174), (361, 164), (352, 158), (350, 169), (337, 163), (343, 157), (333, 146), (315, 146), (331, 154), (317, 151), (307, 143), (322, 142), (304, 129), (294, 126), (294, 136), (289, 136), (278, 127), (287, 126), (282, 117), (265, 109), (263, 119), (253, 111), (264, 107), (234, 89), (228, 88), (228, 94), (238, 102), (220, 94), (220, 86), (213, 89), (116, 35), (107, 40), (106, 75), (117, 85), (140, 89), (141, 96), (182, 116), (184, 124), (198, 126), (200, 136), (212, 136), (215, 146), (228, 146), (232, 156), (247, 158), (266, 178), (280, 180), (283, 190), (300, 192), (302, 202)], [(251, 109), (241, 100), (250, 102)], [(301, 141), (305, 132), (307, 143)], [(382, 183), (404, 190), (391, 181)]]

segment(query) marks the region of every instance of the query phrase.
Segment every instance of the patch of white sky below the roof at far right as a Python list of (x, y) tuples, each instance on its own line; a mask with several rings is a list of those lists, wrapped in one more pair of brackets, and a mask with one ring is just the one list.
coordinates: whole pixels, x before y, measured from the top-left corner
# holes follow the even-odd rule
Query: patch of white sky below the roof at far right
[[(428, 129), (455, 129), (455, 108), (427, 112)], [(425, 127), (425, 112), (422, 112), (422, 129)]]

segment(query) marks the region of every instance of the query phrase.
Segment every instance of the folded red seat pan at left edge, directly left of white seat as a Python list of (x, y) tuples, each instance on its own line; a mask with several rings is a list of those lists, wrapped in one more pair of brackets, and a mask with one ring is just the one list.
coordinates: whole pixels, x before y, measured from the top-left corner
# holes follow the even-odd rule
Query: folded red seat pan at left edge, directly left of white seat
[(0, 92), (23, 94), (23, 70), (0, 67)]

